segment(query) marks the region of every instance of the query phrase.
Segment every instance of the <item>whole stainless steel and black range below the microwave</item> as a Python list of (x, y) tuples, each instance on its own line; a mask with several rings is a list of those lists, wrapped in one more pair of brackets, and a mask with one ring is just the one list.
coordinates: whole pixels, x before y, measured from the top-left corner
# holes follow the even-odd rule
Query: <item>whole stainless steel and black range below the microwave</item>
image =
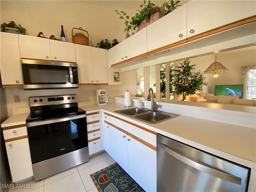
[(86, 112), (76, 95), (30, 97), (26, 119), (34, 180), (89, 160)]

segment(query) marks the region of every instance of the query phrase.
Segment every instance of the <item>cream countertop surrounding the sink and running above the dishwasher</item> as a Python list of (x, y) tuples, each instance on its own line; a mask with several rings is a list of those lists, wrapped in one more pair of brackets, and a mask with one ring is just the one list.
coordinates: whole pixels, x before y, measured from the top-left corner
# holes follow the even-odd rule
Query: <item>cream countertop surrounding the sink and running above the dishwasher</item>
[[(110, 103), (105, 106), (80, 107), (89, 112), (102, 109), (110, 114), (163, 134), (167, 137), (179, 140), (201, 150), (219, 155), (216, 150), (230, 154), (229, 160), (235, 157), (249, 160), (256, 168), (256, 129), (236, 126), (216, 121), (204, 120), (189, 116), (178, 116), (157, 124), (148, 124), (135, 120), (114, 111), (124, 109), (124, 104)], [(206, 146), (206, 147), (204, 147)], [(209, 149), (212, 149), (209, 151)], [(223, 157), (223, 156), (222, 156)], [(227, 155), (226, 158), (229, 158)], [(241, 163), (240, 160), (236, 161)]]

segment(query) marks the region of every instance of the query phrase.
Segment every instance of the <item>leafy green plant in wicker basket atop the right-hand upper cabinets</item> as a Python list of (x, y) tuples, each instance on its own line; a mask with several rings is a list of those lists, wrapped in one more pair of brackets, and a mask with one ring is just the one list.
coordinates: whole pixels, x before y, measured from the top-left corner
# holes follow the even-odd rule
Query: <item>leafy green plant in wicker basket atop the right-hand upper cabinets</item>
[(131, 20), (129, 21), (130, 16), (127, 15), (124, 11), (118, 11), (115, 10), (118, 15), (120, 15), (120, 19), (124, 19), (124, 24), (126, 28), (124, 28), (124, 32), (126, 32), (126, 37), (130, 36), (129, 32), (131, 30), (131, 34), (133, 35), (136, 28), (138, 28), (137, 31), (142, 30), (144, 27), (148, 26), (149, 24), (153, 23), (154, 21), (160, 19), (164, 15), (172, 12), (176, 7), (181, 6), (178, 5), (180, 3), (179, 0), (168, 0), (161, 2), (161, 5), (156, 5), (154, 3), (151, 3), (150, 0), (148, 0), (148, 4), (146, 4), (146, 0), (143, 1), (143, 4), (140, 5), (141, 10), (138, 13), (135, 14), (135, 16), (131, 17)]

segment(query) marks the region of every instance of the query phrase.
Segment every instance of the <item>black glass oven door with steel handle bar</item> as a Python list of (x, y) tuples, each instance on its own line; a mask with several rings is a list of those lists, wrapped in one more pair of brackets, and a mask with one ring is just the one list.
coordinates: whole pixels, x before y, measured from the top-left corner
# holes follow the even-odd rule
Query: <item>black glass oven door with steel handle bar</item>
[(32, 164), (88, 147), (86, 114), (27, 123)]

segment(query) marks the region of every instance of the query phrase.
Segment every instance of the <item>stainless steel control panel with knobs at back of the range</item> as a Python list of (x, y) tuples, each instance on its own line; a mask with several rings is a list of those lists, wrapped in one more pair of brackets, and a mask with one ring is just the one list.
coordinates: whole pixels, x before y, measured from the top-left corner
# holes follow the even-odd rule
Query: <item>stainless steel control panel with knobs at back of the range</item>
[(37, 96), (29, 98), (30, 107), (76, 103), (77, 95)]

